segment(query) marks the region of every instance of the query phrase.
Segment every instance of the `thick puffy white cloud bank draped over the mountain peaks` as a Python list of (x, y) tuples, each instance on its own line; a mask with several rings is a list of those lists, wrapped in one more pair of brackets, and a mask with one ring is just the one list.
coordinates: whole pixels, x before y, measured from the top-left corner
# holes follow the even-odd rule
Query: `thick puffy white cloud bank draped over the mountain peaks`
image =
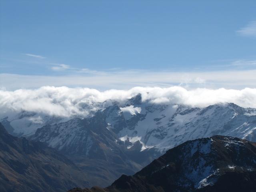
[(242, 107), (256, 108), (256, 89), (206, 89), (187, 90), (181, 86), (134, 87), (128, 90), (99, 91), (90, 88), (43, 86), (38, 89), (0, 90), (0, 114), (10, 111), (40, 112), (56, 116), (86, 116), (98, 110), (98, 102), (125, 101), (142, 94), (142, 100), (152, 103), (185, 104), (205, 107), (219, 102), (233, 102)]

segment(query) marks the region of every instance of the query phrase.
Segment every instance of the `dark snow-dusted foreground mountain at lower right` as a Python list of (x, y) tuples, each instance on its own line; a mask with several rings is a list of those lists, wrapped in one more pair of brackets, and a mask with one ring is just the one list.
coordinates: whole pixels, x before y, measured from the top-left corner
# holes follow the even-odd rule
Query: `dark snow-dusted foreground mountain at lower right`
[(107, 188), (70, 192), (253, 192), (256, 144), (213, 136), (187, 141), (133, 176), (122, 175)]

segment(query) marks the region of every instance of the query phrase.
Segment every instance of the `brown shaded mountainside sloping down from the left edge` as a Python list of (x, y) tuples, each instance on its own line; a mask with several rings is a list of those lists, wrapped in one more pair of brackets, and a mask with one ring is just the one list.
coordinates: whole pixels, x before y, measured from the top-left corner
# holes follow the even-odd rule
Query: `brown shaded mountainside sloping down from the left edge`
[(8, 134), (0, 124), (0, 191), (61, 192), (89, 186), (65, 156), (40, 142)]

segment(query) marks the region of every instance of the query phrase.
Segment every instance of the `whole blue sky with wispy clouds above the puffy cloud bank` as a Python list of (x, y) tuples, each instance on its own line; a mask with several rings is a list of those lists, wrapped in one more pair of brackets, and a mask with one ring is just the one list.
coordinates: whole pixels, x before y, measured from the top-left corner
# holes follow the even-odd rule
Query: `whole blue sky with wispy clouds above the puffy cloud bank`
[(2, 0), (0, 86), (254, 88), (255, 10), (255, 0)]

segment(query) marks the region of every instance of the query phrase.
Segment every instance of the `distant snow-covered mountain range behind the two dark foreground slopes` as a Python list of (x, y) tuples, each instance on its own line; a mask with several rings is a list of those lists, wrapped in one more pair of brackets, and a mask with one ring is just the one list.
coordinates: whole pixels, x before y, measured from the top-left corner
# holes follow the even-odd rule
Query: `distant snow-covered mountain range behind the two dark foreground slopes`
[[(103, 187), (188, 140), (224, 135), (256, 141), (256, 109), (233, 103), (199, 108), (153, 103), (138, 94), (125, 102), (108, 100), (94, 106), (98, 110), (85, 117), (22, 111), (12, 120), (2, 118), (2, 123), (12, 134), (58, 150), (83, 170), (90, 186)], [(22, 129), (16, 126), (19, 122)]]

